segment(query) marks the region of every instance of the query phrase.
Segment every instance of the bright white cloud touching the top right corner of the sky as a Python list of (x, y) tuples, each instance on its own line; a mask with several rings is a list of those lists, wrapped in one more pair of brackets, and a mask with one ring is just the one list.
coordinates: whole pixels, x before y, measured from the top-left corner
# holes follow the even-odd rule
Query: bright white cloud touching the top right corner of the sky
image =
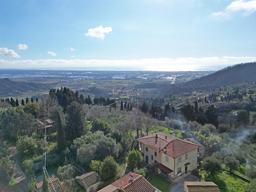
[(233, 1), (228, 7), (226, 11), (235, 12), (244, 10), (246, 12), (254, 12), (256, 11), (256, 0), (251, 1), (244, 1), (244, 0), (237, 0)]

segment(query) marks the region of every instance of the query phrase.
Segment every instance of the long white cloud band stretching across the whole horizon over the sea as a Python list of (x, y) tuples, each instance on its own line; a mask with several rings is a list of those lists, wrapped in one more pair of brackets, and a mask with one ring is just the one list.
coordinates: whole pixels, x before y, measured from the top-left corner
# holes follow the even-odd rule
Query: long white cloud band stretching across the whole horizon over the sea
[[(203, 58), (151, 58), (141, 60), (0, 60), (0, 68), (93, 68), (93, 70), (153, 70), (153, 71), (208, 71), (246, 62), (254, 62), (256, 57), (203, 57)], [(122, 67), (120, 67), (122, 66)], [(87, 69), (86, 69), (87, 68)], [(82, 69), (80, 69), (82, 70)]]

